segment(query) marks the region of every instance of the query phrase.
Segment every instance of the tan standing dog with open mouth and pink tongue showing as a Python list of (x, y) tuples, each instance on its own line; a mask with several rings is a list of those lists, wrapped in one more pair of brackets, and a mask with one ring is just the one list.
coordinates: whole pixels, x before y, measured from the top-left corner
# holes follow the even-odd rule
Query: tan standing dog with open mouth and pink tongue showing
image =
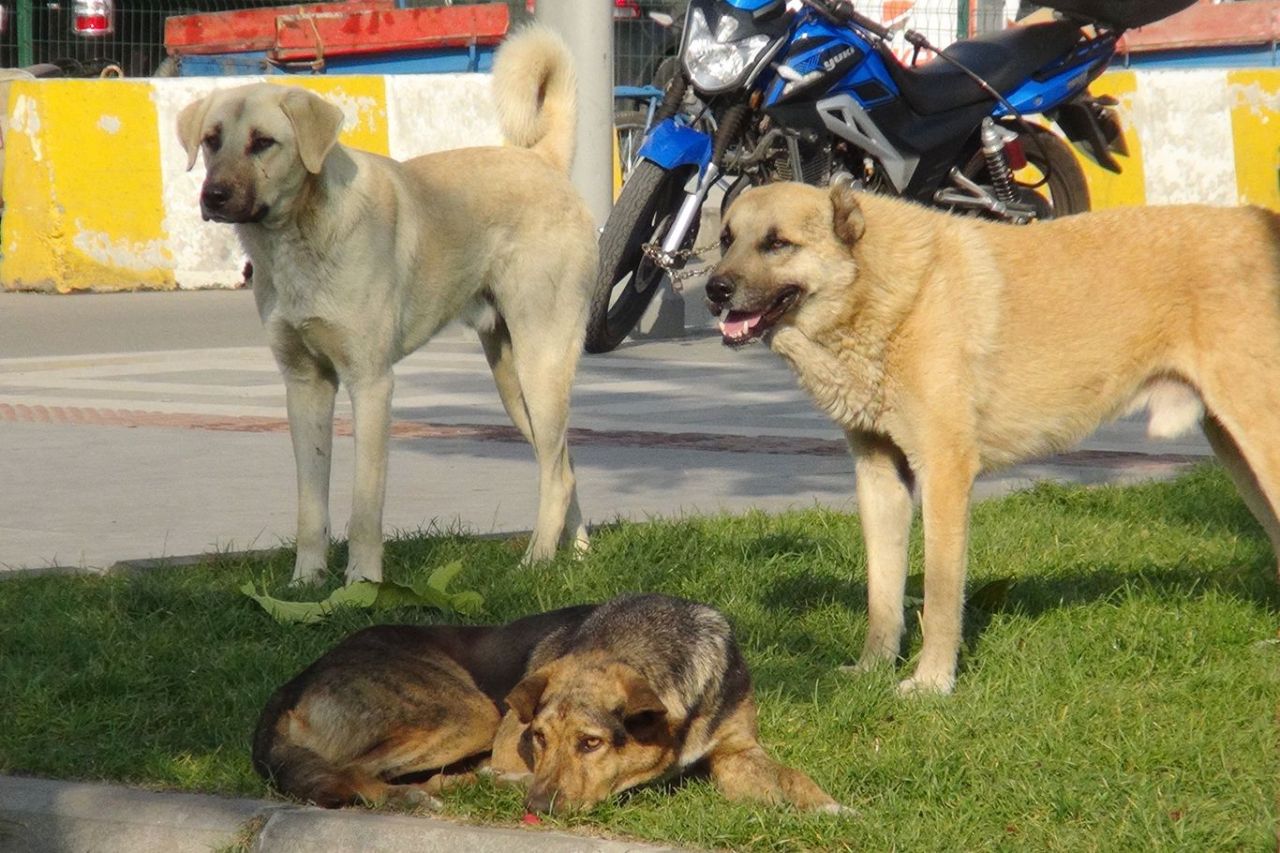
[[(707, 287), (726, 343), (764, 337), (856, 460), (868, 564), (859, 669), (904, 633), (913, 489), (924, 646), (901, 689), (946, 693), (974, 478), (1147, 407), (1204, 432), (1280, 552), (1280, 216), (1111, 210), (1014, 227), (847, 186), (773, 184), (730, 209)], [(1207, 409), (1207, 414), (1204, 412)]]

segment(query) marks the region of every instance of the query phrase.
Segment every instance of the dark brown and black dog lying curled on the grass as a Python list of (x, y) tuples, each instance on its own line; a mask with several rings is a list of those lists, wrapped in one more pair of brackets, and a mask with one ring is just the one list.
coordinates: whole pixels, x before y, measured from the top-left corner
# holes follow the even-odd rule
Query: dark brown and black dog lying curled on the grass
[(434, 807), (486, 771), (526, 784), (531, 811), (571, 811), (700, 762), (730, 799), (842, 811), (764, 752), (724, 616), (655, 594), (367, 628), (278, 689), (253, 735), (253, 768), (325, 807)]

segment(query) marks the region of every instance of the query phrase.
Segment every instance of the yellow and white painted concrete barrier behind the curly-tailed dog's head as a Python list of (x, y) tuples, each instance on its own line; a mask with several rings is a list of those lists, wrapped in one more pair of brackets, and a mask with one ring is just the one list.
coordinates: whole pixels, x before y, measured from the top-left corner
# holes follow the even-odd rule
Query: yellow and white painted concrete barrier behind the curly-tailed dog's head
[[(268, 79), (268, 78), (264, 78)], [(205, 223), (178, 111), (253, 78), (14, 81), (4, 133), (0, 284), (24, 291), (234, 287), (234, 231)], [(500, 142), (483, 74), (269, 78), (347, 115), (342, 141), (403, 159)]]

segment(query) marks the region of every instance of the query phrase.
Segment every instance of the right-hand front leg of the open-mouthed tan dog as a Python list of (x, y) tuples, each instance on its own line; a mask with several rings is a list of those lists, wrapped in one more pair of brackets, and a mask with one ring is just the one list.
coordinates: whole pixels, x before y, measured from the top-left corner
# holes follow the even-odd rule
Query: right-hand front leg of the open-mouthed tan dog
[(924, 646), (901, 693), (950, 693), (956, 680), (969, 547), (969, 498), (978, 474), (963, 455), (929, 459), (922, 479), (924, 516)]

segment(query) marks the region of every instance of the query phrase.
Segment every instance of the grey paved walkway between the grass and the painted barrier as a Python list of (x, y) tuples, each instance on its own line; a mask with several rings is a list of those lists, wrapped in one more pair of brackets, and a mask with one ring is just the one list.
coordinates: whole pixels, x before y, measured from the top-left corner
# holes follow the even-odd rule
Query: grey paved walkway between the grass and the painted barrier
[[(0, 566), (275, 547), (293, 535), (284, 388), (248, 292), (0, 295)], [(339, 430), (349, 406), (339, 392)], [(389, 530), (532, 524), (532, 452), (509, 426), (479, 345), (448, 329), (397, 368)], [(573, 451), (591, 521), (685, 512), (852, 507), (836, 428), (764, 347), (714, 336), (582, 359)], [(1208, 453), (1151, 443), (1139, 421), (1074, 453), (984, 478), (1167, 476)], [(349, 512), (352, 442), (334, 442), (333, 523)]]

